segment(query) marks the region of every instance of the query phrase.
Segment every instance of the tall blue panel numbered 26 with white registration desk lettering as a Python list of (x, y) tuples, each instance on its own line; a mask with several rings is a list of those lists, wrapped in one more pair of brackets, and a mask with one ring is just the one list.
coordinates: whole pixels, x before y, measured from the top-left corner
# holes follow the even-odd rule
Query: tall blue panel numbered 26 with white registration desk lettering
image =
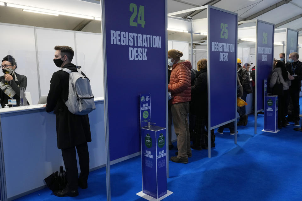
[(264, 79), (272, 71), (274, 49), (274, 25), (257, 20), (257, 111), (263, 110)]

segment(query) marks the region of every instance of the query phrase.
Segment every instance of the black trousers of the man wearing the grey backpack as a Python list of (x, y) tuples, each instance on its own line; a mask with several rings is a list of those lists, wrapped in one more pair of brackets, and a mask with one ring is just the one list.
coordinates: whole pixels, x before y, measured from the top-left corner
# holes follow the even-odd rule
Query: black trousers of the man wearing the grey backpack
[[(78, 166), (76, 162), (76, 150), (79, 156), (79, 164), (81, 168), (80, 177), (78, 178)], [(85, 183), (89, 174), (89, 153), (87, 142), (77, 145), (73, 148), (62, 149), (62, 156), (64, 160), (64, 166), (66, 169), (66, 176), (68, 187), (70, 190), (78, 189), (79, 182)]]

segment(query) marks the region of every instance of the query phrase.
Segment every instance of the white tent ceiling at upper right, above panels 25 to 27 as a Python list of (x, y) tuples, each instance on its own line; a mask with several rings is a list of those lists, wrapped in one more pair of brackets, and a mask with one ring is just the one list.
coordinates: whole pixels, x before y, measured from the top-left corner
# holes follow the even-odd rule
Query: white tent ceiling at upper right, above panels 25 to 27
[[(302, 35), (302, 0), (168, 0), (168, 13), (207, 4), (238, 13), (238, 21), (260, 19), (278, 25), (288, 20), (278, 28), (299, 30)], [(189, 14), (192, 19), (206, 18), (205, 10), (175, 16), (185, 18)], [(293, 20), (294, 17), (297, 19)]]

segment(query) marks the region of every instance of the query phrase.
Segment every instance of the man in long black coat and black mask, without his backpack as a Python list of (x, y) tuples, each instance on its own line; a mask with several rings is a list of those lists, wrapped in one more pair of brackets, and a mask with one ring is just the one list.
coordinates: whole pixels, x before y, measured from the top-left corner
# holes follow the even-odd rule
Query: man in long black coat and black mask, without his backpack
[[(71, 63), (74, 51), (69, 46), (55, 46), (56, 50), (53, 62), (59, 68), (68, 68), (76, 72), (77, 68)], [(83, 74), (83, 73), (82, 73)], [(89, 174), (89, 153), (87, 142), (91, 142), (88, 115), (72, 114), (65, 101), (68, 99), (69, 73), (59, 70), (53, 73), (50, 80), (49, 93), (47, 96), (46, 111), (54, 111), (56, 114), (57, 143), (62, 150), (64, 166), (67, 174), (67, 186), (60, 191), (54, 192), (56, 196), (77, 196), (78, 186), (87, 188)], [(76, 162), (76, 149), (79, 156), (81, 174), (78, 178)]]

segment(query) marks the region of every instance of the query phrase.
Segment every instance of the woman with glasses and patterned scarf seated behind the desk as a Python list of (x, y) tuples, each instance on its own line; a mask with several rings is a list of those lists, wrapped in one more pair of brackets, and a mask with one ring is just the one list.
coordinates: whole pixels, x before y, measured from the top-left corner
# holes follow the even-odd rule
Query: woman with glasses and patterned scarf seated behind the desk
[[(15, 72), (17, 63), (11, 55), (3, 58), (1, 68), (4, 73), (0, 77), (0, 103), (2, 108), (8, 104), (8, 99), (16, 99), (17, 105), (20, 106), (20, 87), (26, 89), (27, 78), (25, 75), (19, 75)], [(12, 105), (8, 105), (12, 107)]]

